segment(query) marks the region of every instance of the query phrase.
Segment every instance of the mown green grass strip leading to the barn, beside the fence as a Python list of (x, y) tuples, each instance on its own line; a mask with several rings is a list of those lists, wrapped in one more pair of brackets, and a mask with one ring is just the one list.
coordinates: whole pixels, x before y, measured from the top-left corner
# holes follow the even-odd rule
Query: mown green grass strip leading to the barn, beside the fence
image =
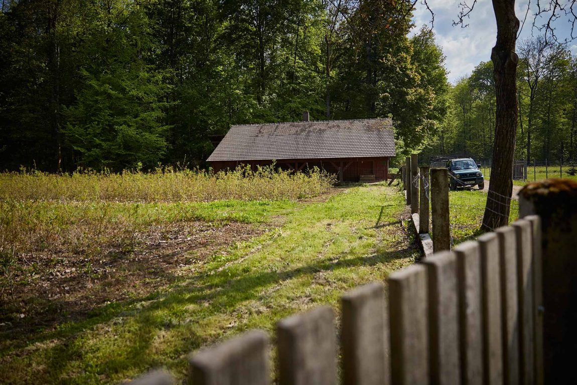
[[(222, 207), (214, 210), (236, 210)], [(0, 352), (0, 383), (118, 383), (153, 367), (182, 379), (190, 352), (250, 328), (272, 335), (282, 317), (318, 304), (337, 309), (343, 291), (413, 263), (406, 210), (402, 195), (380, 184), (271, 210), (271, 230), (193, 260), (168, 290), (55, 330), (2, 333), (13, 341)]]

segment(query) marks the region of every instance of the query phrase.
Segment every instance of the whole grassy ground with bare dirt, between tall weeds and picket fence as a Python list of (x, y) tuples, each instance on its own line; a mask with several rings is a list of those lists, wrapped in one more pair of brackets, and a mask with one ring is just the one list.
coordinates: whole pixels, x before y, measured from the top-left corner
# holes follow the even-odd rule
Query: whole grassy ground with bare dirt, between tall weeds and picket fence
[(102, 196), (99, 178), (76, 189), (84, 197), (5, 193), (0, 383), (118, 383), (152, 367), (182, 379), (193, 350), (336, 307), (419, 255), (402, 196), (382, 184), (159, 203), (158, 192)]

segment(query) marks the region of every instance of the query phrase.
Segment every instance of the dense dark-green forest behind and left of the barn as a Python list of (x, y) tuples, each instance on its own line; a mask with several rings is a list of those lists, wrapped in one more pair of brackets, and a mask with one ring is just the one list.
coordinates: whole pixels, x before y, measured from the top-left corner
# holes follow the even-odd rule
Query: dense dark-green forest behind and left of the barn
[(410, 4), (2, 0), (0, 166), (202, 166), (211, 135), (304, 110), (392, 116), (400, 151), (421, 148), (450, 85)]

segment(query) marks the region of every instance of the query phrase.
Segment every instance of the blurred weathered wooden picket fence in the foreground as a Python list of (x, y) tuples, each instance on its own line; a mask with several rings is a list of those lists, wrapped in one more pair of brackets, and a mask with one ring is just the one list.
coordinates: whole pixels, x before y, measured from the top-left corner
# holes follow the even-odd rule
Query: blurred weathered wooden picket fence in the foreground
[[(276, 382), (541, 384), (540, 226), (527, 216), (435, 253), (389, 275), (388, 293), (381, 282), (349, 291), (340, 333), (328, 306), (281, 320)], [(246, 332), (194, 354), (189, 383), (270, 384), (270, 353), (265, 332)], [(137, 382), (170, 379), (153, 373)]]

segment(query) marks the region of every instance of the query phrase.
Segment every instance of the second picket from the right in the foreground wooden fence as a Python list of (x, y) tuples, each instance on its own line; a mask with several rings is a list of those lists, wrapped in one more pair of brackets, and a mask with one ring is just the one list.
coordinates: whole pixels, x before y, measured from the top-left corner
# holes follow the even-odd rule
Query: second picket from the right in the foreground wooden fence
[(531, 222), (516, 220), (517, 276), (519, 293), (520, 383), (534, 384), (533, 264)]

